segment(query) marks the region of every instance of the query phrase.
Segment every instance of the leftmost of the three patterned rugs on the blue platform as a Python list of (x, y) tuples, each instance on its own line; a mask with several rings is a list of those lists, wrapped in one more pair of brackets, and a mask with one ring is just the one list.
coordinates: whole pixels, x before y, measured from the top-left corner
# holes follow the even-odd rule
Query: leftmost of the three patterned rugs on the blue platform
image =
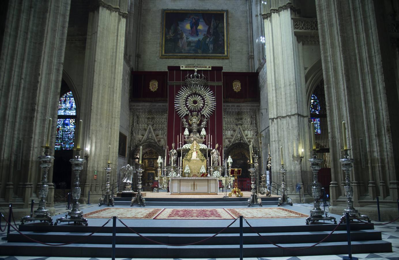
[(161, 210), (162, 208), (102, 208), (83, 216), (85, 218), (111, 218), (117, 216), (121, 219), (152, 219)]

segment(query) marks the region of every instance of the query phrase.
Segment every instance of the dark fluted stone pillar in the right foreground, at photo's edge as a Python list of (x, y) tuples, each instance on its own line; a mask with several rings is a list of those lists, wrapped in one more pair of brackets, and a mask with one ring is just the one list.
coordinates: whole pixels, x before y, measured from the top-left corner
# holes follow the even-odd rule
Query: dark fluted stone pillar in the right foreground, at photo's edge
[[(344, 174), (338, 162), (343, 148), (342, 121), (347, 122), (350, 157), (355, 159), (351, 176), (354, 205), (362, 206), (360, 197), (364, 203), (375, 203), (375, 196), (380, 196), (380, 202), (388, 202), (391, 207), (397, 200), (398, 156), (393, 149), (397, 144), (393, 142), (391, 126), (398, 124), (387, 101), (389, 89), (396, 86), (381, 55), (389, 49), (385, 46), (389, 41), (381, 36), (386, 29), (378, 28), (376, 12), (380, 10), (374, 4), (371, 0), (316, 0), (329, 115), (332, 211), (338, 200), (340, 204), (345, 201), (341, 184)], [(396, 91), (393, 96), (397, 113)], [(385, 186), (388, 183), (389, 190)]]

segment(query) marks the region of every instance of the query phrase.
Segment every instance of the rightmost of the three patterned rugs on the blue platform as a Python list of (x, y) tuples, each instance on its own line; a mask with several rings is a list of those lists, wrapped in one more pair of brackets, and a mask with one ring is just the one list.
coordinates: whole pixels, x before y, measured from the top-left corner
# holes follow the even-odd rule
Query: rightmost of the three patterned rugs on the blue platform
[(231, 215), (244, 218), (306, 218), (308, 215), (286, 208), (226, 208)]

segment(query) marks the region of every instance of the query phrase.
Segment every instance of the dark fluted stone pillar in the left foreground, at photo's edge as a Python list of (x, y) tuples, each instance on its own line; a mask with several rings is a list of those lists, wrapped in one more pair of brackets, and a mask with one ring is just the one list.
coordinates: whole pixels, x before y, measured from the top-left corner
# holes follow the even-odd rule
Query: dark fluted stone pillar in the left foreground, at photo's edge
[(70, 0), (8, 3), (0, 58), (0, 201), (14, 202), (16, 218), (38, 197), (37, 158), (48, 118), (54, 144), (69, 7)]

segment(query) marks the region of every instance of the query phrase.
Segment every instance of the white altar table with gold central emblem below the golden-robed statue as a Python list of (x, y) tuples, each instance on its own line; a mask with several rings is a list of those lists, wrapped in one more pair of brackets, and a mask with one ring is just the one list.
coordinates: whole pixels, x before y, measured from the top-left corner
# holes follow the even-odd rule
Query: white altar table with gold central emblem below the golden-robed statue
[(218, 178), (214, 177), (171, 177), (170, 194), (217, 194)]

